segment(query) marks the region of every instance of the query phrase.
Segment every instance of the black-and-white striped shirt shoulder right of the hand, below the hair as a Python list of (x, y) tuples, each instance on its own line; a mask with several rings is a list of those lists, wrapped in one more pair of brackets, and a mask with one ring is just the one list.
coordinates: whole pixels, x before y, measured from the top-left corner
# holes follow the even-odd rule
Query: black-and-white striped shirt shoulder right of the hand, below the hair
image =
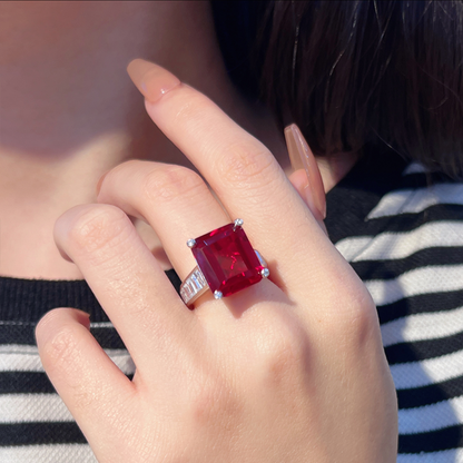
[(426, 181), (420, 165), (410, 166), (357, 235), (336, 247), (378, 309), (400, 406), (397, 462), (456, 463), (463, 462), (463, 185)]

